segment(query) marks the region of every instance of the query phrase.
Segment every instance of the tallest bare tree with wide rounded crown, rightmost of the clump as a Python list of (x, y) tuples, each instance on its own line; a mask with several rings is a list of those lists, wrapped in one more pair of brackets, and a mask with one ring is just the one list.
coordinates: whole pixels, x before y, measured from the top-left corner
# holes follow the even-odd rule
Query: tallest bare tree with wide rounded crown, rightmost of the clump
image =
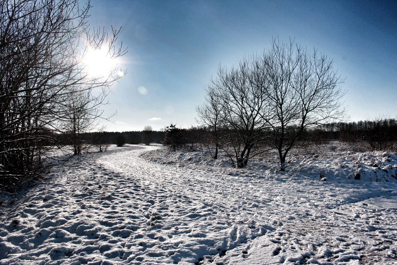
[[(295, 48), (294, 48), (295, 47)], [(299, 147), (305, 130), (335, 119), (345, 118), (340, 101), (344, 80), (333, 70), (333, 61), (310, 54), (306, 48), (272, 40), (272, 47), (257, 62), (267, 88), (264, 90), (271, 107), (264, 120), (271, 128), (272, 144), (285, 170), (285, 158), (292, 148)]]

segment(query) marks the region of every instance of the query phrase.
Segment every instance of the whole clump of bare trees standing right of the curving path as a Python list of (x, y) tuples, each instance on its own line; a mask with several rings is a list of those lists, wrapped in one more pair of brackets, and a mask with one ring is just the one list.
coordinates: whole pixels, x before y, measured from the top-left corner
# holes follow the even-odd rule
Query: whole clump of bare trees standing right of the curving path
[(268, 51), (220, 66), (197, 107), (199, 121), (225, 133), (216, 143), (234, 150), (237, 167), (268, 149), (276, 149), (281, 170), (292, 148), (310, 129), (345, 117), (343, 80), (333, 61), (316, 50), (275, 38)]

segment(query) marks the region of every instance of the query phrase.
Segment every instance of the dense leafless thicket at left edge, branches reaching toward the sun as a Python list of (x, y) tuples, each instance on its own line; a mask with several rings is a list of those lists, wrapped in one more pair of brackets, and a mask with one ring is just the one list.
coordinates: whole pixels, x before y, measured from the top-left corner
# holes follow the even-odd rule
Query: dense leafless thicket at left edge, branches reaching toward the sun
[[(20, 183), (39, 173), (46, 146), (56, 134), (79, 134), (100, 115), (107, 88), (119, 78), (87, 72), (89, 49), (115, 49), (118, 31), (89, 31), (89, 4), (77, 0), (6, 0), (0, 3), (0, 175), (2, 183)], [(96, 90), (94, 91), (94, 89)]]

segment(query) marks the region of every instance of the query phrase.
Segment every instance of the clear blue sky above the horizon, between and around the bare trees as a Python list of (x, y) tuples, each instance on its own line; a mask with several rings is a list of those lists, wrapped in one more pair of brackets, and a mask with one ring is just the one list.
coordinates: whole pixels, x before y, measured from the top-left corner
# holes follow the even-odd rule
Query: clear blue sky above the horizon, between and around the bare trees
[[(397, 1), (92, 0), (92, 27), (121, 27), (127, 74), (112, 87), (107, 131), (195, 124), (219, 64), (295, 38), (334, 60), (352, 121), (397, 118)], [(157, 119), (153, 119), (157, 118)]]

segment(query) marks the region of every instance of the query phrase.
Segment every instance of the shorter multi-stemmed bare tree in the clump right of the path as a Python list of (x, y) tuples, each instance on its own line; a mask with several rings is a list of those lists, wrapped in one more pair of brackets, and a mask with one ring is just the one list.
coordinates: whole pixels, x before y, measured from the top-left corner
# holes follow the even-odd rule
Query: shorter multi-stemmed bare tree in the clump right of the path
[[(222, 149), (236, 159), (238, 168), (247, 166), (249, 159), (264, 152), (262, 145), (267, 138), (264, 132), (268, 125), (262, 112), (268, 108), (268, 101), (263, 93), (265, 84), (261, 83), (264, 79), (254, 79), (254, 59), (244, 58), (230, 69), (220, 66), (207, 94), (220, 106), (217, 108), (221, 110), (220, 121), (225, 132)], [(227, 146), (231, 146), (233, 156)]]

